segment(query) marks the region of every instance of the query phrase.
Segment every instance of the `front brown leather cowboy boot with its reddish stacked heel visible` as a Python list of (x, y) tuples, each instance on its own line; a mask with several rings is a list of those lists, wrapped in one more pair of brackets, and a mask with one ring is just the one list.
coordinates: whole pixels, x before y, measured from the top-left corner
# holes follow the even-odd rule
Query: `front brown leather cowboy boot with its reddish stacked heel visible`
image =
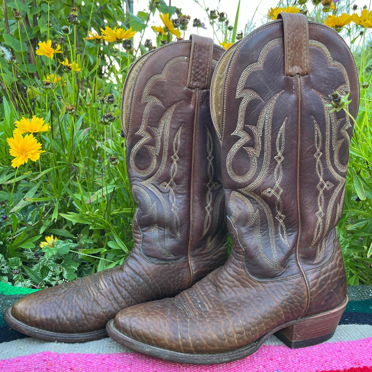
[(231, 255), (176, 297), (119, 312), (106, 328), (129, 349), (223, 363), (271, 334), (302, 347), (337, 327), (347, 296), (335, 225), (353, 123), (327, 105), (350, 92), (356, 116), (357, 71), (332, 29), (281, 17), (228, 49), (212, 81)]

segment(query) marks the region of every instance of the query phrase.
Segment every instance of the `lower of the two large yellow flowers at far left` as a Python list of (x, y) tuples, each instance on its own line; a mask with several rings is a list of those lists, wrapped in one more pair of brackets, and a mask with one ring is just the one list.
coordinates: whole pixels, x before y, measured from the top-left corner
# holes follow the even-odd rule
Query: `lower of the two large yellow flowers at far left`
[(13, 138), (7, 138), (6, 140), (10, 146), (9, 154), (14, 156), (12, 160), (13, 168), (27, 163), (29, 159), (36, 161), (41, 153), (45, 153), (45, 151), (40, 150), (41, 144), (36, 141), (32, 134), (26, 134), (23, 138), (22, 134), (14, 133)]

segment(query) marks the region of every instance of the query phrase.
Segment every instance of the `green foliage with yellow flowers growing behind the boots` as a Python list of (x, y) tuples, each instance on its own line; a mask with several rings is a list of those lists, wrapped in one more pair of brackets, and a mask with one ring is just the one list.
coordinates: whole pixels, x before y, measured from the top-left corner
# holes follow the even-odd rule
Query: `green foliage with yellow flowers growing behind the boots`
[[(195, 1), (217, 43), (228, 48), (243, 37), (240, 1), (233, 22), (222, 9)], [(338, 18), (364, 10), (349, 0), (280, 1), (278, 7), (328, 22), (356, 57), (360, 110), (338, 233), (349, 284), (371, 284), (372, 49), (368, 22)], [(275, 18), (278, 7), (268, 9), (263, 22)], [(0, 16), (0, 280), (41, 288), (120, 264), (133, 246), (135, 208), (120, 126), (126, 74), (141, 54), (205, 25), (164, 0), (149, 0), (136, 14), (116, 0), (4, 0)], [(144, 40), (150, 20), (154, 37)], [(253, 25), (252, 19), (245, 33)], [(22, 132), (24, 126), (29, 131)], [(26, 163), (15, 130), (38, 146)], [(52, 234), (54, 245), (40, 248)]]

